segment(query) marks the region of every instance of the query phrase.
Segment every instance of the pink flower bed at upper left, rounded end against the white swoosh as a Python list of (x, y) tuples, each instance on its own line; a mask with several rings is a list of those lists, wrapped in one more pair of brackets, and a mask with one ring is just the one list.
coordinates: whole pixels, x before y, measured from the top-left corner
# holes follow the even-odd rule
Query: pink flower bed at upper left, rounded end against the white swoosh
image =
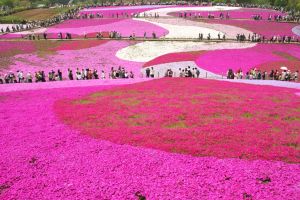
[[(97, 32), (117, 31), (123, 37), (129, 37), (135, 34), (136, 37), (143, 37), (146, 32), (150, 37), (155, 32), (157, 37), (168, 34), (163, 27), (151, 24), (149, 22), (137, 21), (132, 19), (76, 19), (67, 20), (61, 24), (49, 28), (36, 29), (33, 31), (24, 31), (0, 35), (1, 39), (21, 38), (27, 34), (43, 34), (46, 32), (48, 38), (58, 38), (59, 33), (71, 33), (73, 38), (82, 38), (84, 34), (88, 37), (96, 37)], [(65, 37), (65, 36), (63, 36)]]

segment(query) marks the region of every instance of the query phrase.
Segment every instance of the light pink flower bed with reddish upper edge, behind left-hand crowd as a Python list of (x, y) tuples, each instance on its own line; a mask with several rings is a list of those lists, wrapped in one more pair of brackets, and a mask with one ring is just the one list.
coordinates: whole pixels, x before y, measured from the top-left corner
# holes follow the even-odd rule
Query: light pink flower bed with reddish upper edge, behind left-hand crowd
[[(45, 42), (45, 43), (43, 43)], [(135, 45), (136, 41), (107, 41), (107, 40), (79, 40), (79, 41), (36, 41), (36, 51), (10, 55), (3, 62), (2, 72), (8, 70), (23, 72), (35, 72), (44, 70), (62, 70), (64, 74), (71, 68), (75, 72), (76, 68), (104, 70), (108, 73), (111, 67), (125, 67), (132, 71), (136, 77), (141, 75), (143, 63), (122, 60), (116, 57), (119, 49), (130, 45)], [(1, 44), (1, 43), (0, 43)], [(13, 44), (13, 42), (11, 42)], [(66, 60), (66, 58), (68, 58)], [(2, 58), (0, 58), (2, 59)]]

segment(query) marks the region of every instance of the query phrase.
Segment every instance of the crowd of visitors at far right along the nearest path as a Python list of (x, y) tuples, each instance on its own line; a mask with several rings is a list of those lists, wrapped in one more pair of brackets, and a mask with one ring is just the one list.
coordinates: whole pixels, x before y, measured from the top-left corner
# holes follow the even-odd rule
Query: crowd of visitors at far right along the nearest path
[(280, 80), (280, 81), (298, 81), (298, 70), (292, 73), (290, 70), (271, 70), (269, 73), (267, 71), (261, 71), (259, 69), (253, 68), (243, 73), (242, 69), (234, 72), (232, 69), (227, 71), (227, 79), (249, 79), (249, 80)]

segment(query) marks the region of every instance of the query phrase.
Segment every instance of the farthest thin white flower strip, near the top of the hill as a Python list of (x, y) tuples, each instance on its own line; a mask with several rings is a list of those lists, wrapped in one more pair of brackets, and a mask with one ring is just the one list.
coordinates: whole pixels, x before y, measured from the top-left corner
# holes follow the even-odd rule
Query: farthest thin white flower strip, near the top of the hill
[(155, 13), (158, 13), (159, 16), (165, 17), (168, 16), (168, 13), (171, 12), (180, 12), (180, 11), (227, 11), (227, 10), (239, 10), (240, 7), (228, 7), (228, 6), (209, 6), (209, 7), (170, 7), (170, 8), (158, 8), (150, 11), (146, 11), (140, 14), (143, 16), (146, 15), (154, 16)]

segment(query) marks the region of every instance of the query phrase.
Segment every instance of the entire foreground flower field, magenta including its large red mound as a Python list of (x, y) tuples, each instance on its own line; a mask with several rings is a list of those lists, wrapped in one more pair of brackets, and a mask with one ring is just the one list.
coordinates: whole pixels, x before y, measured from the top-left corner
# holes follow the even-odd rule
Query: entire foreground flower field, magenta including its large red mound
[(299, 198), (297, 90), (161, 79), (64, 91), (0, 93), (1, 199)]

